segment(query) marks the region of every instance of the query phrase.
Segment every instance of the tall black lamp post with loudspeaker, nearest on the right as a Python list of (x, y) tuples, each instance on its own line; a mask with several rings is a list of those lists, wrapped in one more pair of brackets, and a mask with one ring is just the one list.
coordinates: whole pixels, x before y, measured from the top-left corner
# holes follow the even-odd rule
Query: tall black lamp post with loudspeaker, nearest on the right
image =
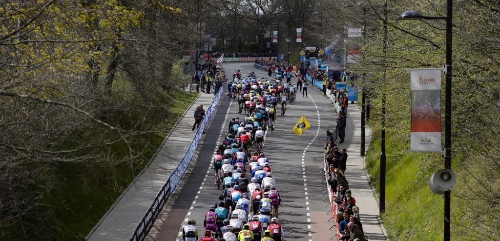
[[(453, 1), (446, 0), (446, 16), (424, 16), (417, 11), (403, 12), (399, 19), (443, 19), (446, 20), (446, 62), (444, 65), (444, 168), (451, 170), (451, 63), (452, 63), (452, 36), (453, 27)], [(450, 205), (451, 192), (444, 192), (444, 241), (450, 240)]]

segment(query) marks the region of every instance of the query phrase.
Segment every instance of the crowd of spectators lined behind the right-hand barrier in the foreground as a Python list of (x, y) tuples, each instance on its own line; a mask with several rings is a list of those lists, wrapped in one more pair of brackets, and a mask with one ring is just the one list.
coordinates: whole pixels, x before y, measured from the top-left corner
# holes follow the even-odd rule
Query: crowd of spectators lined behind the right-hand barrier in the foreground
[(336, 137), (326, 130), (326, 143), (324, 145), (324, 158), (328, 165), (326, 178), (329, 191), (333, 193), (331, 202), (338, 207), (334, 213), (336, 225), (340, 235), (338, 240), (365, 241), (363, 226), (359, 217), (359, 207), (356, 199), (349, 189), (349, 182), (344, 175), (347, 168), (347, 150), (338, 150), (335, 144)]

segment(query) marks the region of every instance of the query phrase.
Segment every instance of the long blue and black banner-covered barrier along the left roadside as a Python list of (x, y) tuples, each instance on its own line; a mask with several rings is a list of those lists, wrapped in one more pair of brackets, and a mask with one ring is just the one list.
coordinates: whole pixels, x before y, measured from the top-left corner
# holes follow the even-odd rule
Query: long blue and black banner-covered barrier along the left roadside
[(205, 126), (212, 117), (213, 110), (215, 109), (218, 101), (220, 100), (220, 97), (222, 96), (222, 89), (223, 88), (220, 88), (215, 97), (213, 98), (212, 103), (206, 110), (205, 116), (201, 120), (198, 130), (196, 131), (196, 134), (194, 135), (194, 138), (191, 141), (189, 148), (187, 148), (184, 157), (182, 157), (175, 170), (173, 170), (173, 172), (168, 177), (166, 183), (154, 197), (151, 206), (149, 207), (149, 209), (147, 209), (146, 213), (144, 214), (139, 224), (135, 228), (135, 231), (133, 232), (132, 236), (130, 237), (129, 239), (130, 241), (144, 240), (144, 238), (147, 236), (147, 233), (149, 233), (149, 230), (151, 229), (154, 221), (156, 220), (159, 211), (163, 208), (163, 205), (165, 204), (166, 200), (168, 199), (170, 194), (173, 193), (173, 191), (179, 184), (180, 179), (182, 178), (185, 171), (189, 167), (189, 164), (191, 163), (194, 152), (198, 147), (201, 135), (203, 134), (203, 131), (205, 131)]

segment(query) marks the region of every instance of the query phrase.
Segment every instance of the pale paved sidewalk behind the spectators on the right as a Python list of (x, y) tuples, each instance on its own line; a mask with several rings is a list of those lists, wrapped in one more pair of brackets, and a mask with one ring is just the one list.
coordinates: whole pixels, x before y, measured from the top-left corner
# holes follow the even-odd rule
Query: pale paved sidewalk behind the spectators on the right
[[(363, 224), (364, 235), (369, 240), (385, 240), (382, 227), (378, 223), (378, 202), (374, 197), (373, 190), (369, 185), (368, 176), (364, 169), (364, 157), (361, 151), (361, 110), (357, 104), (349, 104), (347, 107), (347, 128), (353, 128), (350, 145), (341, 148), (347, 149), (347, 168), (345, 177), (349, 181), (349, 188), (352, 196), (356, 199), (356, 206), (359, 206), (359, 216)], [(365, 126), (365, 150), (371, 139), (371, 130)]]

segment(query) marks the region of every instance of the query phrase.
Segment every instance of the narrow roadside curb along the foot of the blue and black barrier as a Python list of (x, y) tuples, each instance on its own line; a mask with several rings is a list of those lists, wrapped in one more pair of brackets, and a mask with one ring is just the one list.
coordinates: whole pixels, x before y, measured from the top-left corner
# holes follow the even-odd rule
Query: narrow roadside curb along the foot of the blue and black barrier
[[(212, 112), (213, 116), (215, 116), (215, 114), (217, 114), (218, 108), (219, 108), (220, 104), (222, 103), (222, 99), (224, 99), (224, 97), (225, 97), (224, 94), (222, 94), (219, 101), (215, 105), (216, 107)], [(210, 128), (212, 121), (213, 121), (213, 118), (210, 119), (206, 123), (205, 129)], [(170, 210), (173, 208), (173, 205), (175, 204), (177, 197), (180, 195), (180, 191), (182, 190), (184, 185), (187, 183), (187, 180), (191, 176), (192, 169), (197, 164), (198, 155), (199, 155), (199, 152), (201, 151), (201, 148), (203, 147), (203, 144), (204, 144), (203, 142), (205, 140), (205, 137), (206, 137), (206, 134), (204, 134), (200, 137), (198, 146), (196, 147), (196, 150), (194, 151), (193, 157), (191, 159), (191, 163), (189, 164), (187, 171), (184, 173), (184, 175), (180, 179), (180, 182), (177, 185), (177, 187), (175, 188), (174, 192), (170, 195), (170, 197), (167, 199), (167, 201), (163, 205), (163, 208), (159, 212), (158, 217), (154, 221), (153, 226), (149, 230), (149, 233), (147, 234), (146, 238), (144, 238), (144, 240), (154, 241), (156, 239), (157, 235), (159, 234), (161, 227), (163, 226), (164, 221), (166, 220), (166, 218), (168, 218), (168, 214), (169, 214)]]

